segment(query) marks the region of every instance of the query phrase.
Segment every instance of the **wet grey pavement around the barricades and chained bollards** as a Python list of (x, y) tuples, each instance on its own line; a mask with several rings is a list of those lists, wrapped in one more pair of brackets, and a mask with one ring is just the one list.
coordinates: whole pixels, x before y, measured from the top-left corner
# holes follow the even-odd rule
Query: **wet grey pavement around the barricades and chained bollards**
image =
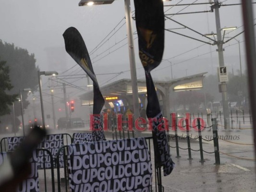
[[(246, 127), (244, 127), (246, 128)], [(249, 128), (249, 126), (248, 126)], [(82, 132), (82, 130), (63, 130), (72, 135), (73, 132)], [(176, 148), (171, 148), (171, 157), (176, 163), (171, 175), (164, 177), (162, 175), (162, 186), (164, 192), (255, 192), (256, 191), (256, 168), (255, 154), (251, 129), (240, 131), (219, 131), (219, 135), (240, 135), (239, 139), (219, 140), (220, 165), (215, 165), (213, 141), (203, 142), (204, 162), (200, 162), (200, 152), (198, 140), (191, 140), (191, 157), (189, 160), (187, 141), (179, 140), (179, 154), (176, 157)], [(57, 133), (52, 131), (51, 133)], [(59, 133), (59, 132), (58, 132)], [(191, 132), (192, 136), (198, 135), (198, 132)], [(191, 134), (190, 133), (190, 134)], [(173, 134), (173, 132), (170, 132)], [(185, 136), (186, 132), (179, 132), (179, 135)], [(112, 133), (106, 134), (112, 139)], [(212, 135), (211, 131), (203, 131), (202, 135)], [(13, 136), (13, 135), (12, 135)], [(146, 132), (144, 136), (150, 136)], [(170, 140), (171, 147), (175, 147), (175, 140)], [(151, 147), (151, 153), (153, 152)], [(206, 153), (207, 152), (207, 153)], [(152, 158), (152, 164), (154, 159)], [(39, 189), (44, 192), (44, 173), (39, 170)], [(50, 172), (46, 171), (47, 192), (50, 189)], [(55, 169), (55, 191), (57, 191), (57, 171)], [(63, 169), (61, 170), (63, 178)], [(153, 191), (155, 190), (155, 175), (153, 172)], [(61, 184), (61, 192), (65, 192), (64, 183)]]

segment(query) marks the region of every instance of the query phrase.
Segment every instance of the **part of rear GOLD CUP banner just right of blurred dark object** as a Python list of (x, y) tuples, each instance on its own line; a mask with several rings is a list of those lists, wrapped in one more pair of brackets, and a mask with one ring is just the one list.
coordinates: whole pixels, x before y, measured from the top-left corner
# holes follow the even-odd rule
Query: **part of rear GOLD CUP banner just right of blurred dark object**
[[(48, 149), (53, 157), (53, 167), (56, 168), (55, 158), (59, 148), (63, 146), (63, 134), (50, 134), (46, 135), (43, 141), (38, 145), (37, 148)], [(38, 151), (38, 169), (51, 168), (50, 156), (48, 152)], [(59, 157), (60, 168), (63, 168), (64, 159), (63, 159), (63, 150), (60, 153)]]

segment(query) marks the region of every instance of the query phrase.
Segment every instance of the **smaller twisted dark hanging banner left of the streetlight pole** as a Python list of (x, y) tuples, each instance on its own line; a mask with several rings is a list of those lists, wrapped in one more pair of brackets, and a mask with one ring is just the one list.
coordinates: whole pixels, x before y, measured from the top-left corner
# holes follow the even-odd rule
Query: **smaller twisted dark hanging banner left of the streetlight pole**
[[(82, 69), (93, 81), (93, 114), (100, 114), (105, 101), (99, 90), (98, 81), (93, 71), (92, 62), (90, 60), (83, 37), (74, 27), (69, 27), (66, 29), (66, 31), (63, 33), (63, 37), (67, 53), (82, 67)], [(96, 116), (93, 117), (94, 121), (96, 122), (94, 123), (95, 127), (93, 127), (92, 131), (94, 141), (106, 140), (103, 132), (103, 125), (100, 124), (101, 121), (98, 121)]]

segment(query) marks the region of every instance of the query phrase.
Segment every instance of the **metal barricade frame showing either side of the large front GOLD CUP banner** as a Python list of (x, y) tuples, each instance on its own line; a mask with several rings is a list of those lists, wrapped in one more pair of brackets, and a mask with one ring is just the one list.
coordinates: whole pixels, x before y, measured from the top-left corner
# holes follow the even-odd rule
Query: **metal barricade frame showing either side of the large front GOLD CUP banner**
[[(153, 137), (145, 137), (149, 155), (151, 157), (151, 160), (153, 158), (155, 162), (155, 154), (154, 154), (154, 147), (153, 147)], [(63, 151), (66, 162), (64, 163), (64, 168), (61, 171), (61, 168), (59, 167), (59, 164), (57, 164), (57, 182), (58, 182), (58, 192), (68, 192), (69, 189), (69, 175), (68, 175), (68, 162), (67, 162), (67, 156), (68, 156), (68, 146), (69, 145), (63, 145), (56, 155), (56, 161), (59, 160), (59, 154), (61, 151)], [(152, 151), (151, 151), (152, 150)], [(156, 168), (155, 163), (152, 164), (152, 170), (154, 170), (154, 174), (152, 175), (154, 177), (155, 175), (155, 190), (153, 190), (153, 186), (151, 187), (151, 192), (163, 192), (164, 187), (162, 186), (162, 180), (161, 180), (161, 168)], [(61, 178), (64, 177), (64, 178)], [(153, 184), (153, 183), (152, 183)]]

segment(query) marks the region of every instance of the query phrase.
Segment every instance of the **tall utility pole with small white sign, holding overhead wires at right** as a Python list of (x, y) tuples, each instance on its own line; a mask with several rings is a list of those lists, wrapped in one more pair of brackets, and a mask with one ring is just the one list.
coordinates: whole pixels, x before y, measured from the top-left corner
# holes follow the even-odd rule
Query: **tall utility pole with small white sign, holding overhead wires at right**
[[(214, 5), (212, 8), (215, 9), (215, 20), (216, 20), (216, 31), (217, 31), (217, 46), (219, 53), (219, 67), (224, 67), (224, 56), (223, 56), (223, 41), (221, 38), (220, 31), (220, 19), (219, 19), (219, 0), (214, 0)], [(226, 82), (221, 82), (221, 94), (222, 94), (222, 105), (223, 105), (223, 115), (224, 115), (224, 128), (228, 128), (228, 119), (229, 119), (229, 105), (227, 100), (227, 84)]]

